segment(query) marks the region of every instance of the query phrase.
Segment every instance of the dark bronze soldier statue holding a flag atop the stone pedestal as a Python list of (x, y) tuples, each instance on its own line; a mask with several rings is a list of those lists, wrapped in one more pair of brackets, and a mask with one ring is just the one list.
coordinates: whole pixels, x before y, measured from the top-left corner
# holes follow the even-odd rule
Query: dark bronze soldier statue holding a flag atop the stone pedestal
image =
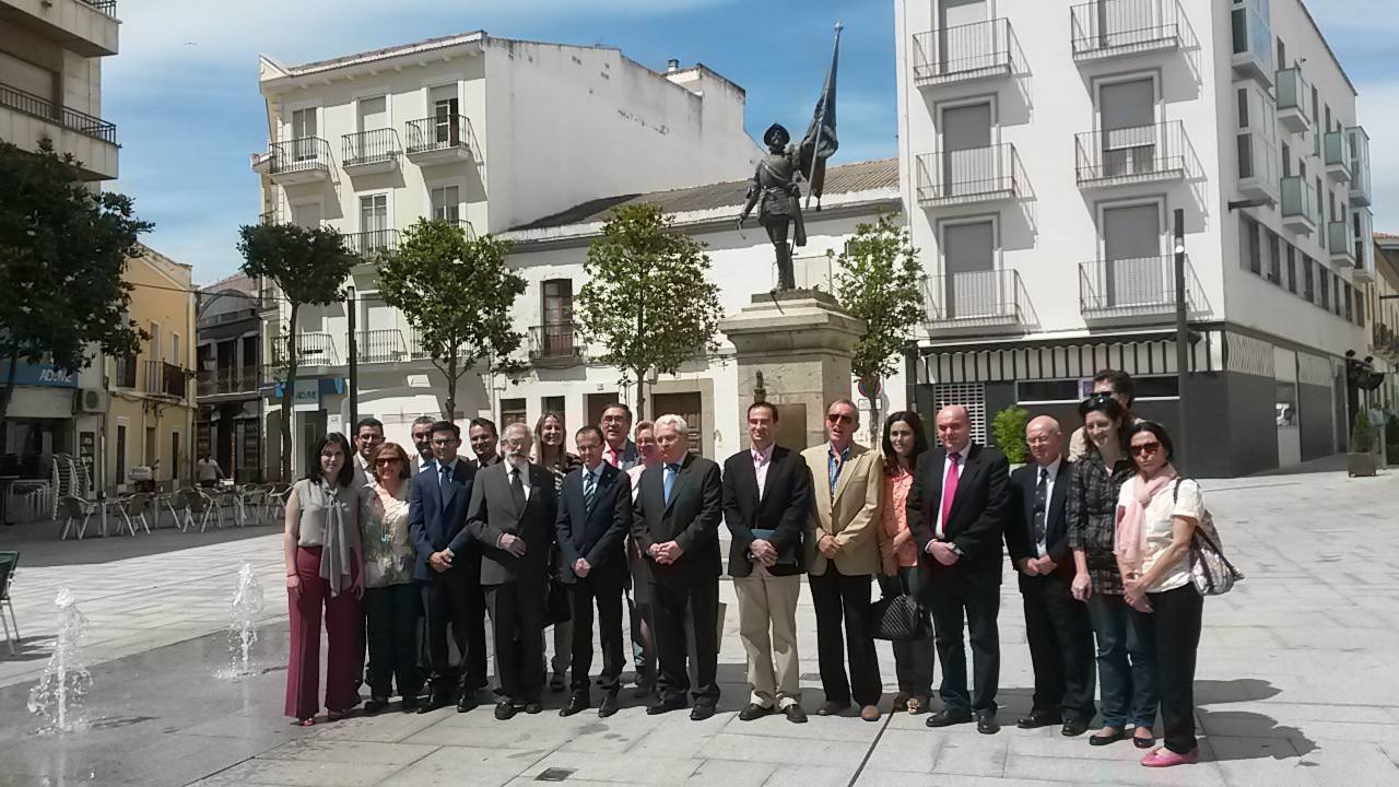
[[(779, 123), (774, 123), (762, 134), (768, 154), (758, 162), (748, 186), (748, 200), (739, 214), (739, 228), (758, 209), (758, 224), (768, 231), (768, 239), (776, 251), (778, 290), (795, 290), (796, 277), (792, 269), (792, 248), (806, 245), (806, 224), (802, 218), (802, 186), (806, 179), (807, 206), (816, 197), (816, 209), (821, 210), (821, 188), (825, 183), (825, 160), (837, 148), (835, 140), (835, 63), (841, 50), (841, 29), (835, 25), (835, 48), (831, 52), (831, 70), (825, 74), (825, 87), (816, 102), (811, 125), (800, 144), (790, 146), (792, 136)], [(789, 245), (788, 235), (792, 235)]]

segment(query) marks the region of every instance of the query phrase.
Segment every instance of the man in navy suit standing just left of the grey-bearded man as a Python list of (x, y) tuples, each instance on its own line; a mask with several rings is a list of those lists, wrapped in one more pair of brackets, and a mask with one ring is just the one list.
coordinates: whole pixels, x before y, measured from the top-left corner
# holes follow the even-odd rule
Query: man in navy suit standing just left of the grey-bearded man
[[(485, 688), (485, 599), (481, 595), (480, 550), (457, 543), (466, 528), (476, 471), (459, 459), (462, 431), (452, 422), (432, 424), (435, 461), (414, 478), (409, 499), (409, 532), (417, 548), (416, 578), (422, 585), (427, 613), (432, 695), (418, 713), (429, 713), (456, 700), (462, 713), (476, 707), (476, 693)], [(450, 665), (446, 632), (462, 654), (460, 675)]]

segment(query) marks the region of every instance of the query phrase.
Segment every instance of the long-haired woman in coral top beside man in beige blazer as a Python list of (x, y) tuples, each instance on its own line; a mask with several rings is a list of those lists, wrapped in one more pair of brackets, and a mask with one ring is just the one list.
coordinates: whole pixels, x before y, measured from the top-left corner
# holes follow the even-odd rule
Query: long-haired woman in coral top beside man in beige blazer
[[(898, 412), (884, 420), (884, 500), (879, 528), (879, 552), (883, 573), (879, 577), (884, 597), (908, 594), (922, 602), (923, 581), (918, 570), (918, 545), (908, 529), (905, 503), (914, 485), (914, 468), (928, 451), (928, 431), (918, 413)], [(919, 606), (921, 609), (921, 606)], [(894, 664), (898, 675), (898, 695), (894, 710), (922, 713), (928, 710), (933, 693), (933, 633), (929, 625), (925, 636), (895, 640)]]

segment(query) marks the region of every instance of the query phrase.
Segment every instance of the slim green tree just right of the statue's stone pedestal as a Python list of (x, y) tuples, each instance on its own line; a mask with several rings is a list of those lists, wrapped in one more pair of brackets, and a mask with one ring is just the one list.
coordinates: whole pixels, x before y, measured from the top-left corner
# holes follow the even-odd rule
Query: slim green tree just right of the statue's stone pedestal
[[(855, 343), (851, 371), (856, 378), (880, 382), (898, 368), (900, 353), (923, 322), (919, 283), (923, 269), (908, 231), (880, 214), (874, 224), (858, 224), (841, 252), (835, 293), (841, 307), (865, 321), (865, 335)], [(872, 420), (879, 424), (877, 398), (870, 398)]]

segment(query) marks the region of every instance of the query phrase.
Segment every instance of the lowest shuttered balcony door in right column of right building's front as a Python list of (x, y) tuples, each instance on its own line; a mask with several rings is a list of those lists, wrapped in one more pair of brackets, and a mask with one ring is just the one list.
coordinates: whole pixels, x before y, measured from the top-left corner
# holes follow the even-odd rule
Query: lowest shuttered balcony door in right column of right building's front
[[(1174, 302), (1174, 266), (1161, 256), (1161, 210), (1133, 204), (1102, 210), (1102, 291), (1105, 305)], [(1172, 280), (1167, 280), (1171, 276)]]

